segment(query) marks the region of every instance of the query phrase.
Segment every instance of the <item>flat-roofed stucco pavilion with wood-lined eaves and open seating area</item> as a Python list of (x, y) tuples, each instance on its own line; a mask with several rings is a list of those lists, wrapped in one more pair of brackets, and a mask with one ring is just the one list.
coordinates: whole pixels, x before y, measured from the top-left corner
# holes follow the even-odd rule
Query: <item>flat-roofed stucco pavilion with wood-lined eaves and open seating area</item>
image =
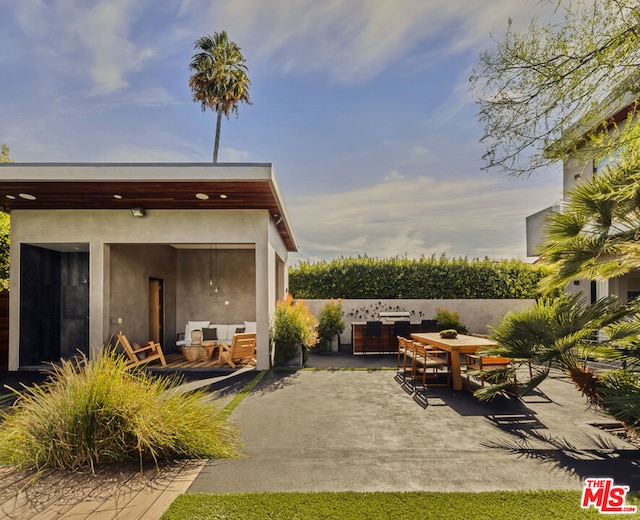
[(91, 355), (119, 330), (175, 351), (188, 320), (269, 318), (297, 251), (270, 164), (0, 165), (11, 214), (9, 370)]

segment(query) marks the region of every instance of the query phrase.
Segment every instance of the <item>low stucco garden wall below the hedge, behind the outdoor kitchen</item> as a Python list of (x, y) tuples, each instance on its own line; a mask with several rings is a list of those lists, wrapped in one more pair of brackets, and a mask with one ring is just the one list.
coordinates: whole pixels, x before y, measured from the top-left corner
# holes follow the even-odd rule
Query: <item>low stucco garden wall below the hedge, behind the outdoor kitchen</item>
[[(317, 316), (327, 300), (305, 300)], [(343, 344), (351, 343), (351, 322), (377, 319), (379, 311), (411, 313), (411, 321), (433, 318), (437, 308), (456, 311), (460, 322), (470, 332), (484, 334), (487, 325), (494, 323), (509, 311), (533, 305), (534, 300), (342, 300), (347, 328), (340, 336)]]

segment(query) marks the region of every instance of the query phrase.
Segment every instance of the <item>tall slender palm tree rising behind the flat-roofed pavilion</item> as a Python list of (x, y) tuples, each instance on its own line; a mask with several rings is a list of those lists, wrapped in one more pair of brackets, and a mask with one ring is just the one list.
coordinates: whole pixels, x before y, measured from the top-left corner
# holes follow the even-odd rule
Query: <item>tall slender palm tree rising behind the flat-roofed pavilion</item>
[(189, 78), (193, 101), (217, 112), (216, 137), (213, 147), (213, 162), (218, 162), (220, 147), (220, 125), (222, 114), (238, 114), (240, 102), (251, 104), (247, 76), (247, 66), (240, 47), (227, 37), (226, 31), (214, 32), (196, 40), (194, 49), (198, 52), (191, 58), (189, 70), (194, 71)]

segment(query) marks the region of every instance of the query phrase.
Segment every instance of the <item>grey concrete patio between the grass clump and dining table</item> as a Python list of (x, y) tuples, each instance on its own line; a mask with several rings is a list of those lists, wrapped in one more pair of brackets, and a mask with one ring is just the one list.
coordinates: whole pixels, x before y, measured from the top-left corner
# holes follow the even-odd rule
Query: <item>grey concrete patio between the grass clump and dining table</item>
[[(393, 364), (340, 358), (309, 365)], [(245, 457), (209, 461), (189, 492), (581, 489), (586, 477), (640, 489), (638, 450), (592, 426), (611, 421), (562, 374), (491, 403), (449, 388), (416, 398), (394, 375), (269, 373), (231, 416)]]

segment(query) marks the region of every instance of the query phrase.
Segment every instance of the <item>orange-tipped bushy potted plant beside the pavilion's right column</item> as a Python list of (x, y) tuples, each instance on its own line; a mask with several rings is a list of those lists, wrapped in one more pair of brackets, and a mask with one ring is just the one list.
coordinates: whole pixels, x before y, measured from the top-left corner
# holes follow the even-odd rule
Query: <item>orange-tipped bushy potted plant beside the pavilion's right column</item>
[(275, 346), (275, 364), (302, 366), (318, 339), (316, 319), (303, 300), (287, 294), (276, 303), (270, 330)]

